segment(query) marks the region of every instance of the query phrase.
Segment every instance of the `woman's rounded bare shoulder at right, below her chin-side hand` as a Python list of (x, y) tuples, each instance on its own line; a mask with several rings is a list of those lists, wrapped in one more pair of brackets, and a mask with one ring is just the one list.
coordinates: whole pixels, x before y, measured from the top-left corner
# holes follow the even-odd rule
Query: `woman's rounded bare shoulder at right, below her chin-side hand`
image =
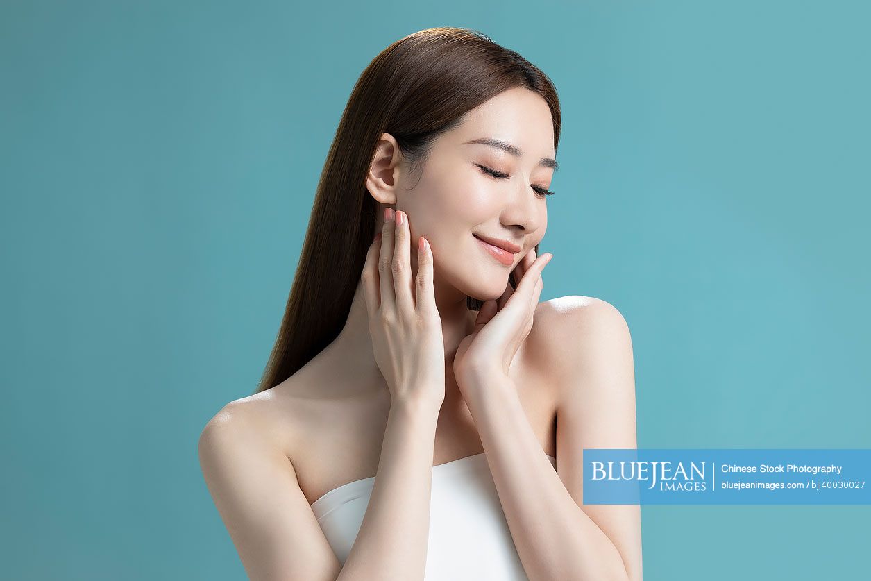
[(540, 302), (529, 339), (538, 364), (561, 380), (577, 378), (603, 349), (631, 349), (629, 326), (618, 308), (577, 294)]

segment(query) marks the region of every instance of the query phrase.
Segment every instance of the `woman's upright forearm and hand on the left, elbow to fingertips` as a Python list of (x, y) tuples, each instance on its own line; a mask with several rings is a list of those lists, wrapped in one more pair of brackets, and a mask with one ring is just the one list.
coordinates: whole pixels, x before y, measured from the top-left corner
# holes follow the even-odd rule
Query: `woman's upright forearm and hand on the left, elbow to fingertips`
[(372, 496), (341, 579), (414, 581), (426, 569), (444, 339), (429, 243), (418, 240), (415, 279), (410, 238), (408, 216), (386, 208), (361, 273), (372, 348), (391, 403)]

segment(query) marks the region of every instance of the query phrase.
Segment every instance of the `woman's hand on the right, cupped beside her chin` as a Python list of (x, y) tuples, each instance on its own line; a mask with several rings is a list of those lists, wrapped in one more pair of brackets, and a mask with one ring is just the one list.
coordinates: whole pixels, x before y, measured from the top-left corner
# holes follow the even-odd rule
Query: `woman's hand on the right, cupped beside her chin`
[(515, 269), (515, 276), (521, 276), (517, 288), (509, 280), (499, 299), (484, 301), (474, 331), (460, 341), (454, 356), (454, 376), (461, 391), (494, 379), (494, 374), (508, 377), (511, 361), (532, 329), (532, 315), (544, 288), (541, 273), (551, 258), (551, 253), (537, 257), (535, 248), (530, 249)]

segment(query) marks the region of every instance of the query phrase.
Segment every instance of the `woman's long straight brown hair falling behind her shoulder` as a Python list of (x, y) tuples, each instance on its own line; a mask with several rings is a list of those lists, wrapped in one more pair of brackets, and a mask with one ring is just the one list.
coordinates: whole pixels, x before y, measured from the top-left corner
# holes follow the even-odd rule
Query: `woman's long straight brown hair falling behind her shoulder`
[[(550, 106), (556, 151), (560, 110), (550, 78), (477, 30), (420, 30), (366, 67), (327, 154), (281, 328), (254, 393), (294, 375), (345, 325), (375, 237), (377, 202), (365, 176), (381, 133), (392, 135), (412, 172), (419, 171), (436, 138), (460, 125), (467, 111), (517, 86)], [(468, 297), (467, 305), (477, 310), (482, 301)]]

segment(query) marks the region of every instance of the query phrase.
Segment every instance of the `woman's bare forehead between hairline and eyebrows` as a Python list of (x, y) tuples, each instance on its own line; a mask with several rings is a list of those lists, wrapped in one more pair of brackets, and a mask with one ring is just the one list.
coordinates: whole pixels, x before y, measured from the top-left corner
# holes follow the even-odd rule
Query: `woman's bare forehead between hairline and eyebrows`
[(503, 91), (468, 111), (463, 123), (445, 133), (443, 141), (470, 151), (496, 151), (486, 145), (463, 145), (477, 138), (496, 138), (516, 145), (529, 159), (555, 157), (550, 107), (536, 92), (523, 87)]

